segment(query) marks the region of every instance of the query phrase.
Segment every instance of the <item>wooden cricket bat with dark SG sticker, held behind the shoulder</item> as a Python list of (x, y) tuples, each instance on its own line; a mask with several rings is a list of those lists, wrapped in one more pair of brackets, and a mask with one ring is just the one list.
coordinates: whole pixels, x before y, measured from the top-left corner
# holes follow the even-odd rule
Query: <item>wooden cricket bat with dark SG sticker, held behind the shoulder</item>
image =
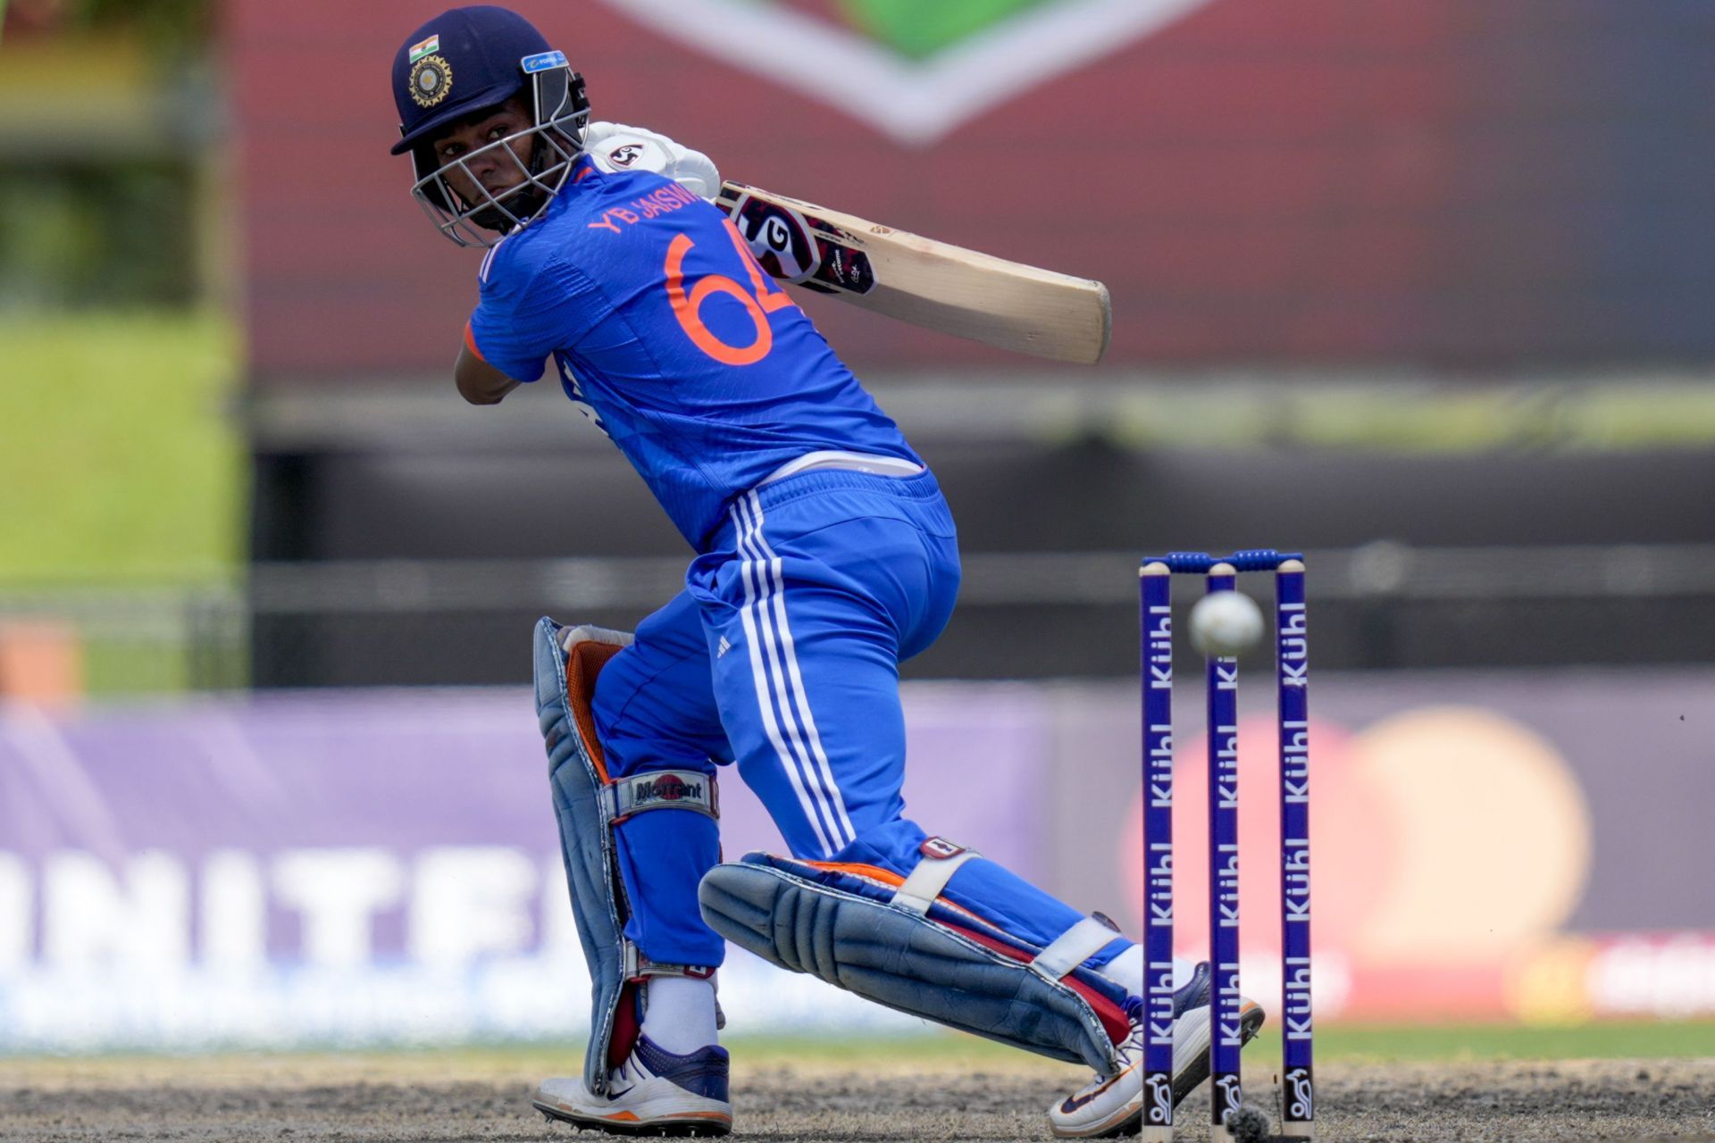
[(1108, 288), (1008, 262), (744, 183), (717, 206), (773, 278), (912, 326), (1014, 353), (1094, 365), (1108, 348)]

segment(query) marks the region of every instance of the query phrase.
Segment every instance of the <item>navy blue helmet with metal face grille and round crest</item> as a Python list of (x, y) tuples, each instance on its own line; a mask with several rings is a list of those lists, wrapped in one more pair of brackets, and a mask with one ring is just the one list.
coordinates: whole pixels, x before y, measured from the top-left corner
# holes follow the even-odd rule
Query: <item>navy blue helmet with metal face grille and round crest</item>
[[(432, 142), (442, 130), (513, 96), (525, 98), (532, 127), (446, 163), (436, 156)], [(405, 39), (393, 57), (393, 101), (400, 110), (393, 154), (412, 154), (412, 195), (461, 247), (490, 247), (547, 206), (578, 158), (590, 117), (583, 77), (566, 55), (525, 17), (485, 3), (442, 12)], [(468, 166), (478, 156), (504, 159), (521, 178), (485, 189)], [(448, 182), (454, 171), (463, 178)]]

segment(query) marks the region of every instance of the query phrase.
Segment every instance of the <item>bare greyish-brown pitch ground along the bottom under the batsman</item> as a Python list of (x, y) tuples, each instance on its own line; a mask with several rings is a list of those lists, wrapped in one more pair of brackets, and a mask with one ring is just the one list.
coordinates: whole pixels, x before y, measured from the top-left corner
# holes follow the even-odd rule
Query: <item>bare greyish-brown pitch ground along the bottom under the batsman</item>
[[(527, 1093), (542, 1061), (436, 1057), (0, 1059), (0, 1140), (242, 1143), (575, 1138)], [(568, 1071), (573, 1061), (563, 1064)], [(900, 1061), (734, 1069), (737, 1138), (1048, 1140), (1043, 1110), (1079, 1069)], [(1264, 1097), (1271, 1076), (1245, 1076)], [(1322, 1140), (1715, 1140), (1715, 1059), (1329, 1064)], [(1207, 1138), (1207, 1093), (1182, 1107)], [(599, 1136), (583, 1136), (595, 1140)]]

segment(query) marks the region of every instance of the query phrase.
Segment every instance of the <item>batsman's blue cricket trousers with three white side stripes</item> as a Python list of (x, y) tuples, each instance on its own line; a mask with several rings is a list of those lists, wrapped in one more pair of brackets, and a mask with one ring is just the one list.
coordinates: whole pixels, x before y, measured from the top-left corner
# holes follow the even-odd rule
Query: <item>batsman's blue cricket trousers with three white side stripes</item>
[[(952, 512), (928, 471), (808, 471), (744, 494), (684, 591), (597, 677), (611, 773), (736, 763), (794, 857), (911, 872), (926, 835), (900, 797), (899, 663), (935, 641), (957, 591)], [(657, 811), (616, 835), (626, 936), (653, 961), (719, 965), (724, 943), (696, 907), (719, 824)], [(947, 895), (1038, 944), (1082, 919), (986, 860)]]

